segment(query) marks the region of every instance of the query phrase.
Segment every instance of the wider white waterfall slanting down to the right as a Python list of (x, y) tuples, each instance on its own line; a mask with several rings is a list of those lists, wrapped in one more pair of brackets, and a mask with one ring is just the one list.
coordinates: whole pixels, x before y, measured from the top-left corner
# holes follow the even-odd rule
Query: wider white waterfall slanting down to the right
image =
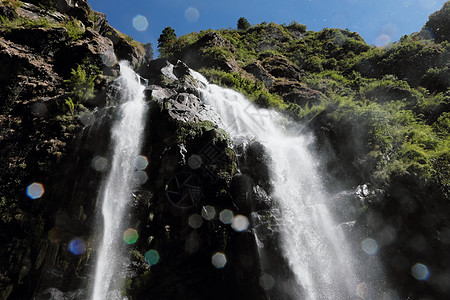
[(280, 231), (282, 255), (300, 287), (293, 290), (301, 291), (294, 298), (355, 296), (355, 258), (327, 207), (330, 197), (321, 182), (317, 159), (308, 150), (312, 137), (289, 133), (283, 126), (287, 120), (280, 114), (257, 108), (240, 93), (208, 84), (201, 74), (191, 73), (203, 85), (203, 100), (217, 110), (221, 126), (235, 144), (256, 139), (272, 160), (271, 197), (278, 205), (273, 217)]

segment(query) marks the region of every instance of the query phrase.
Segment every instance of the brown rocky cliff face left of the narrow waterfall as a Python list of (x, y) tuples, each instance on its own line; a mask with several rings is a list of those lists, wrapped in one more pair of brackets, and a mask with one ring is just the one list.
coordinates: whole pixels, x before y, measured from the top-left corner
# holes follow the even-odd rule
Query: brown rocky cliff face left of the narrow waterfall
[[(99, 179), (92, 158), (68, 154), (88, 147), (83, 145), (92, 135), (77, 137), (92, 123), (89, 110), (104, 105), (117, 60), (138, 66), (149, 57), (85, 1), (3, 1), (0, 11), (0, 298), (29, 299), (45, 280), (66, 289), (79, 283), (74, 274), (82, 274), (89, 260), (89, 238), (80, 257), (71, 256), (68, 243), (88, 237), (96, 188), (83, 186)], [(76, 95), (77, 84), (91, 94), (80, 87)], [(86, 145), (106, 148), (107, 142)], [(40, 199), (26, 195), (33, 182), (44, 186)]]

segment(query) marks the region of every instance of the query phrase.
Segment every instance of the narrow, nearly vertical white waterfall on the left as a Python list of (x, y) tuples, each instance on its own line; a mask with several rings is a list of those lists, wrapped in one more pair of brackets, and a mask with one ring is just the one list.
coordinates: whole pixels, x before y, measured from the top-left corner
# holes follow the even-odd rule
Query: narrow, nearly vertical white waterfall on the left
[(110, 170), (98, 197), (103, 234), (97, 254), (93, 300), (120, 299), (121, 274), (127, 262), (123, 253), (124, 217), (132, 201), (134, 167), (145, 122), (145, 88), (127, 62), (120, 63), (116, 84), (120, 89), (120, 105), (111, 131)]

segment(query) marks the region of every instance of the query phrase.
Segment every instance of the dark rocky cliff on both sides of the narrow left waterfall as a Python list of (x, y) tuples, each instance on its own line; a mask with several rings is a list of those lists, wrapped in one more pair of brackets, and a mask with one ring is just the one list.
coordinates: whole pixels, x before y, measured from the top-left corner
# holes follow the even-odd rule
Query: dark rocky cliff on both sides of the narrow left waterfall
[[(149, 180), (130, 204), (127, 221), (139, 240), (128, 249), (133, 267), (123, 292), (130, 299), (208, 299), (218, 291), (223, 297), (263, 299), (253, 234), (219, 220), (224, 211), (250, 212), (246, 202), (232, 200), (231, 186), (239, 186), (233, 183), (236, 155), (226, 133), (207, 121), (214, 116), (199, 100), (187, 66), (148, 64), (141, 45), (84, 2), (58, 1), (51, 12), (16, 4), (1, 7), (9, 18), (0, 38), (6, 67), (1, 299), (88, 297), (100, 240), (95, 207), (120, 95), (113, 83), (119, 59), (149, 79), (150, 108), (142, 150), (150, 162)], [(19, 25), (8, 23), (13, 21)], [(33, 183), (43, 187), (40, 197), (27, 195)], [(151, 267), (149, 249), (160, 256)], [(234, 263), (214, 268), (212, 255), (221, 258), (225, 252)]]

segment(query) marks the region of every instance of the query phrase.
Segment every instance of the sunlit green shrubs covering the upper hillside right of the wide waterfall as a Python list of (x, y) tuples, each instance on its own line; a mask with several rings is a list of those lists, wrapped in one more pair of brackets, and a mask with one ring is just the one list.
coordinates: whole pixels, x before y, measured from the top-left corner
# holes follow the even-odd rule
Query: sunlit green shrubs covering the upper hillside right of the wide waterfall
[[(428, 28), (440, 26), (433, 24), (446, 20), (442, 14), (430, 16)], [(371, 170), (365, 180), (389, 185), (393, 177), (410, 176), (448, 194), (443, 176), (449, 173), (450, 152), (447, 40), (415, 33), (378, 48), (347, 29), (314, 32), (295, 21), (254, 26), (244, 21), (239, 19), (237, 30), (210, 29), (179, 38), (166, 30), (162, 54), (184, 59), (195, 49), (193, 62), (201, 62), (199, 71), (212, 83), (302, 122), (314, 124), (318, 116), (328, 120), (343, 139), (359, 141), (353, 159)], [(272, 86), (244, 71), (256, 62), (270, 73)], [(305, 102), (284, 97), (302, 89), (323, 96)]]

